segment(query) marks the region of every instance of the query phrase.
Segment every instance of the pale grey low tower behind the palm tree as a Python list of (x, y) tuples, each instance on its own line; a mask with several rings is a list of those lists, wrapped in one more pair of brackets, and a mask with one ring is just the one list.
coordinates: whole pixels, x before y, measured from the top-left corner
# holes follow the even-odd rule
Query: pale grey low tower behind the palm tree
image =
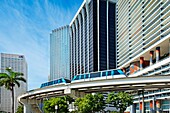
[[(27, 63), (24, 55), (17, 54), (0, 54), (0, 72), (5, 73), (6, 68), (11, 67), (15, 72), (21, 72), (24, 74), (24, 78), (27, 80)], [(17, 97), (27, 91), (27, 83), (20, 83), (20, 88), (17, 86), (14, 89), (14, 102), (15, 110), (18, 107)], [(11, 112), (11, 92), (4, 87), (0, 88), (0, 111)]]

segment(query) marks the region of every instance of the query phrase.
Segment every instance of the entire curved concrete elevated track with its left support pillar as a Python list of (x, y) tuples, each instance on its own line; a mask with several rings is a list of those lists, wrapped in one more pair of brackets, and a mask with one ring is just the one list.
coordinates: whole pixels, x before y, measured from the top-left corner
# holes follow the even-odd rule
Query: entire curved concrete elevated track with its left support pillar
[[(25, 112), (38, 111), (38, 104), (41, 99), (70, 95), (73, 98), (82, 97), (86, 93), (108, 92), (108, 91), (136, 91), (147, 89), (170, 88), (170, 75), (138, 76), (127, 78), (109, 78), (102, 80), (91, 80), (85, 82), (75, 82), (62, 85), (53, 85), (45, 88), (35, 89), (18, 99), (24, 104)], [(36, 107), (37, 106), (37, 107)]]

